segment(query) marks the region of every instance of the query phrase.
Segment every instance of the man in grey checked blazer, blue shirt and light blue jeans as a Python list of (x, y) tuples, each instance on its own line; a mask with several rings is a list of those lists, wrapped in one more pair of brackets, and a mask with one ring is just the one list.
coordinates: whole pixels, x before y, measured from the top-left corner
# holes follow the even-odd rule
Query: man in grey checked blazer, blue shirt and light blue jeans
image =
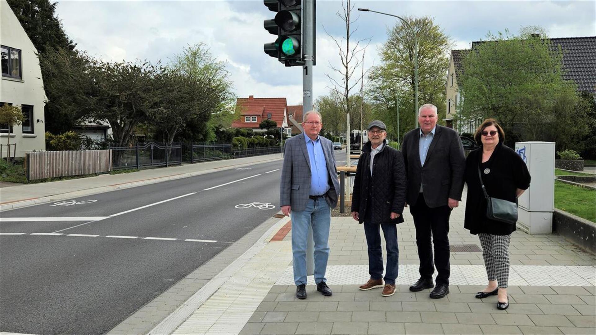
[(292, 220), (292, 255), (296, 297), (306, 298), (306, 240), (312, 227), (315, 242), (316, 290), (324, 296), (333, 294), (327, 286), (325, 271), (329, 258), (331, 208), (337, 205), (339, 181), (333, 142), (319, 136), (321, 114), (307, 111), (304, 132), (285, 141), (281, 170), (280, 204)]

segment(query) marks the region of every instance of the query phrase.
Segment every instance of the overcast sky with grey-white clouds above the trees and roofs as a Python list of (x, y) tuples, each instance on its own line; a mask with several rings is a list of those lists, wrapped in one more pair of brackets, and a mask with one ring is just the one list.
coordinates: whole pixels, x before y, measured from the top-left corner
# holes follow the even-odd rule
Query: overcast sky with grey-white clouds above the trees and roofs
[[(596, 35), (595, 1), (352, 1), (395, 15), (430, 16), (455, 42), (456, 49), (469, 48), (488, 32), (538, 25), (550, 37)], [(345, 35), (336, 13), (341, 1), (316, 2), (316, 59), (313, 96), (328, 94), (334, 75), (328, 64), (339, 64), (337, 48), (325, 33)], [(104, 60), (134, 61), (136, 58), (167, 63), (184, 46), (207, 44), (215, 57), (228, 62), (238, 97), (287, 97), (288, 104), (302, 101), (300, 67), (284, 67), (263, 52), (274, 41), (263, 29), (273, 18), (262, 0), (210, 1), (59, 1), (58, 18), (77, 48)], [(372, 38), (365, 68), (378, 64), (378, 48), (387, 38), (394, 18), (353, 11), (354, 39)]]

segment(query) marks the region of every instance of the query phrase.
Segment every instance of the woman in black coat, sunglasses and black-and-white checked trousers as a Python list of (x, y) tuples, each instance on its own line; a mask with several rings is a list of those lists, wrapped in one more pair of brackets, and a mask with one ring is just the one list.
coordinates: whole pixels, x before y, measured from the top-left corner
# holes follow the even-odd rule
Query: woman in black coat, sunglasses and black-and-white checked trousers
[(530, 173), (526, 163), (515, 151), (506, 147), (503, 129), (495, 119), (486, 119), (474, 135), (480, 148), (472, 151), (465, 164), (465, 183), (468, 197), (465, 203), (464, 228), (478, 235), (482, 244), (488, 286), (478, 292), (482, 299), (497, 297), (497, 308), (507, 309), (507, 281), (509, 278), (509, 241), (516, 224), (486, 218), (486, 198), (480, 175), (490, 197), (517, 202), (517, 197), (530, 187)]

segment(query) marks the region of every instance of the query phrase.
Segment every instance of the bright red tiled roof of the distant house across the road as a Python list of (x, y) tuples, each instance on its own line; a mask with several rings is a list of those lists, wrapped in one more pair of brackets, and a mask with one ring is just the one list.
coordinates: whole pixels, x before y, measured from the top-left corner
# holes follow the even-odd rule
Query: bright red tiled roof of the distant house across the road
[[(285, 98), (238, 98), (236, 106), (240, 106), (242, 117), (232, 122), (232, 128), (259, 128), (259, 123), (271, 114), (271, 120), (281, 127), (284, 122), (284, 111), (287, 109)], [(257, 122), (244, 122), (244, 116), (256, 116)]]

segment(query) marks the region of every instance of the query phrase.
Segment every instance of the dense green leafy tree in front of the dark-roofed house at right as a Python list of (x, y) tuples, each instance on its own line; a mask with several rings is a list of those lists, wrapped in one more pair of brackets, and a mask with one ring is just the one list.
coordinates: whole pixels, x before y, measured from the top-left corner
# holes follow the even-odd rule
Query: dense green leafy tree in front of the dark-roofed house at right
[(589, 121), (578, 110), (575, 83), (562, 77), (561, 50), (539, 27), (525, 27), (517, 36), (489, 33), (487, 39), (464, 59), (458, 120), (493, 117), (508, 145), (542, 140), (557, 142), (560, 150), (575, 147)]

